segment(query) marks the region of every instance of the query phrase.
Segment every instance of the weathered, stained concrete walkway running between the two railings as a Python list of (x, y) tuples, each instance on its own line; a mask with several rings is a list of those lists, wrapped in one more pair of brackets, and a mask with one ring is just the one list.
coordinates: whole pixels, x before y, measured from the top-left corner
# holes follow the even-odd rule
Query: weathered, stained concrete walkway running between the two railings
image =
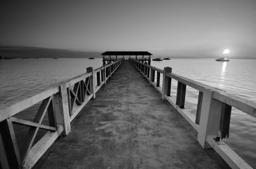
[(228, 168), (125, 61), (35, 168)]

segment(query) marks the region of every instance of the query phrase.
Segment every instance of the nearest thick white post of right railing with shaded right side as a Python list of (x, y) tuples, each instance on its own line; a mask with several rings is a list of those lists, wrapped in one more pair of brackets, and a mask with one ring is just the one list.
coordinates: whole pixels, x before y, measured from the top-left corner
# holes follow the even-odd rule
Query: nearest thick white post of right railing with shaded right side
[(206, 142), (207, 136), (216, 137), (220, 129), (221, 101), (212, 98), (213, 91), (203, 91), (202, 108), (197, 140), (204, 148), (211, 148)]

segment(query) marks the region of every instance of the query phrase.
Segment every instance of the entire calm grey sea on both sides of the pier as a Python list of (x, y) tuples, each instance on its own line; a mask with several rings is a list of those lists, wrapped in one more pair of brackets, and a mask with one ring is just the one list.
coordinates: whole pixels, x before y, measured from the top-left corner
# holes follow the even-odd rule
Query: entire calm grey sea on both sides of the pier
[[(0, 60), (0, 108), (44, 91), (54, 84), (102, 66), (102, 59), (13, 59)], [(152, 61), (152, 66), (172, 67), (173, 73), (256, 102), (256, 59), (172, 59)], [(177, 82), (172, 82), (175, 95)], [(185, 107), (196, 112), (198, 91), (187, 88)], [(256, 168), (256, 120), (232, 109), (230, 136), (225, 138), (234, 151)]]

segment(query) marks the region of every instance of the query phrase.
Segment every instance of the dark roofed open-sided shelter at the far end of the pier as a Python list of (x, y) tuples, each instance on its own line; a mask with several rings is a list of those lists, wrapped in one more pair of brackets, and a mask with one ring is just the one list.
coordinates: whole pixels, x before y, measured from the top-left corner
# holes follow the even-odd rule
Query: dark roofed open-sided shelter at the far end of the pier
[[(140, 62), (147, 61), (147, 63), (150, 65), (152, 54), (150, 54), (150, 52), (147, 52), (147, 51), (106, 51), (101, 55), (102, 55), (103, 65), (106, 64), (106, 62), (110, 63), (113, 61), (117, 61), (118, 56), (122, 56), (122, 58), (125, 58), (125, 56), (128, 56), (128, 55), (129, 55), (129, 58), (131, 58), (131, 56), (134, 56), (134, 59)], [(138, 58), (138, 56), (141, 56), (141, 57)]]

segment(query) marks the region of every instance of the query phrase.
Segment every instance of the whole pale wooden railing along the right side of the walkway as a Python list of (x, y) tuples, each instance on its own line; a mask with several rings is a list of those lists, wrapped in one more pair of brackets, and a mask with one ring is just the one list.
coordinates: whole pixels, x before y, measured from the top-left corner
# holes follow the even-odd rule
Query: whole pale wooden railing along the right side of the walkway
[[(147, 62), (138, 62), (134, 59), (130, 59), (130, 61), (149, 81), (149, 84), (153, 85), (162, 94), (162, 98), (169, 101), (195, 128), (198, 132), (197, 141), (203, 148), (212, 147), (231, 168), (252, 168), (221, 140), (229, 135), (231, 108), (237, 108), (252, 117), (256, 117), (255, 103), (200, 82), (175, 75), (170, 67), (161, 70), (148, 65)], [(162, 86), (160, 85), (161, 74), (163, 74)], [(176, 96), (170, 95), (172, 79), (177, 80), (178, 83)], [(196, 115), (191, 114), (185, 108), (187, 85), (198, 91)]]

